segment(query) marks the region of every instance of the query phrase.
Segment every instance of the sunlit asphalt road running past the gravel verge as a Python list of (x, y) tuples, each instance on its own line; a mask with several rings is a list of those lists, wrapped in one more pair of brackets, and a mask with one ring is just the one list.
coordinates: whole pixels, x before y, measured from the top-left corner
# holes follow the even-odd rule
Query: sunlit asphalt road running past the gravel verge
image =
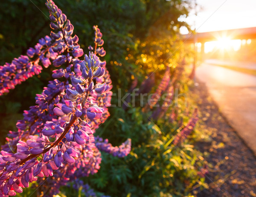
[(202, 63), (196, 78), (206, 84), (221, 113), (256, 155), (256, 77)]

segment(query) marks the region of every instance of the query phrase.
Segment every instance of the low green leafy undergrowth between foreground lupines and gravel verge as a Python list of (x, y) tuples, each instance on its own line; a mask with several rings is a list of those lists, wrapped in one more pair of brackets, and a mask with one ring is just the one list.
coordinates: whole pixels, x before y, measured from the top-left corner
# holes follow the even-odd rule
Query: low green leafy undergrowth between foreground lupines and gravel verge
[(177, 121), (170, 123), (167, 114), (157, 122), (158, 126), (148, 120), (141, 108), (126, 112), (115, 108), (96, 134), (111, 136), (113, 144), (130, 137), (132, 151), (124, 159), (102, 153), (101, 169), (85, 180), (112, 197), (188, 196), (197, 187), (207, 187), (197, 174), (204, 160), (191, 144), (193, 138), (179, 147), (172, 144), (177, 129), (181, 129), (179, 120), (186, 123), (190, 114), (184, 115), (185, 111), (195, 107), (184, 107), (182, 99), (178, 103)]

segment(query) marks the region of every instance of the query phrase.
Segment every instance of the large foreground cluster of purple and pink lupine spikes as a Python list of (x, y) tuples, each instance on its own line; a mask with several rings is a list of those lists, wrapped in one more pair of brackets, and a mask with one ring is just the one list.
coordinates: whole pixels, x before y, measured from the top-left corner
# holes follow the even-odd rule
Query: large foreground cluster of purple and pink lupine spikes
[[(42, 185), (39, 191), (48, 191), (44, 196), (52, 196), (60, 186), (94, 174), (100, 168), (98, 138), (94, 140), (93, 134), (108, 118), (107, 107), (112, 96), (106, 62), (97, 57), (105, 55), (103, 47), (98, 47), (104, 43), (102, 33), (93, 27), (94, 51), (81, 61), (78, 57), (83, 50), (78, 37), (72, 37), (73, 25), (52, 0), (47, 0), (46, 6), (52, 21), (50, 27), (59, 31), (40, 39), (35, 48), (27, 51), (28, 56), (0, 68), (0, 94), (3, 94), (22, 81), (16, 83), (20, 76), (41, 71), (39, 62), (44, 67), (50, 64), (60, 67), (52, 71), (54, 80), (36, 95), (36, 105), (24, 111), (23, 120), (16, 124), (18, 131), (10, 131), (7, 143), (2, 146), (0, 197), (21, 193), (33, 181)], [(131, 150), (131, 141), (112, 149), (111, 154), (124, 157)]]

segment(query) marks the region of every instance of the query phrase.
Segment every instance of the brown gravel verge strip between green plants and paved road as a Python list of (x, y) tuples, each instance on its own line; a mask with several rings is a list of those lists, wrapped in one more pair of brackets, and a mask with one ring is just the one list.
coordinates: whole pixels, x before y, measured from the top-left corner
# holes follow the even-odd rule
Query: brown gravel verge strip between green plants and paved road
[(207, 87), (199, 82), (191, 89), (197, 95), (200, 119), (211, 140), (197, 143), (206, 153), (209, 188), (197, 197), (256, 197), (256, 157), (219, 112)]

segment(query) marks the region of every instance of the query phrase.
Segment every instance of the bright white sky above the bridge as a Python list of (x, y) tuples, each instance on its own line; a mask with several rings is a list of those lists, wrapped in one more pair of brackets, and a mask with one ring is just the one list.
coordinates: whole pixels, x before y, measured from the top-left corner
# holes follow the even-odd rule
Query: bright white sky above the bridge
[[(197, 32), (256, 27), (256, 0), (196, 1), (197, 16), (192, 12), (186, 22)], [(181, 33), (187, 30), (181, 29)]]

